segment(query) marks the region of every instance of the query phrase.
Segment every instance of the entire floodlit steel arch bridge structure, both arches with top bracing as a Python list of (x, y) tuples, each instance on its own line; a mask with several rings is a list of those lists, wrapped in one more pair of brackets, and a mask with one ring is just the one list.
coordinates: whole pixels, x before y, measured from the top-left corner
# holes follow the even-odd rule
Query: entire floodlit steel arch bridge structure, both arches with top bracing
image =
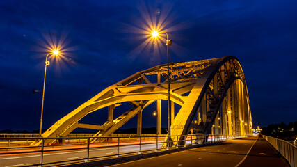
[[(168, 70), (170, 76), (168, 76)], [(168, 100), (170, 81), (171, 135), (182, 143), (189, 132), (202, 134), (248, 135), (252, 133), (252, 117), (246, 79), (235, 56), (202, 61), (157, 65), (123, 79), (95, 95), (74, 111), (58, 120), (42, 137), (59, 137), (74, 129), (96, 129), (95, 136), (111, 136), (128, 120), (137, 116), (137, 132), (141, 135), (142, 111), (156, 101), (157, 134), (161, 132), (161, 100)], [(131, 109), (113, 118), (117, 106), (127, 102)], [(175, 106), (180, 109), (175, 112)], [(103, 125), (80, 123), (83, 117), (108, 108)], [(175, 113), (176, 116), (175, 116)], [(178, 137), (181, 136), (181, 137)], [(95, 139), (93, 139), (94, 142)], [(53, 140), (45, 140), (51, 144)], [(35, 143), (39, 144), (39, 143)]]

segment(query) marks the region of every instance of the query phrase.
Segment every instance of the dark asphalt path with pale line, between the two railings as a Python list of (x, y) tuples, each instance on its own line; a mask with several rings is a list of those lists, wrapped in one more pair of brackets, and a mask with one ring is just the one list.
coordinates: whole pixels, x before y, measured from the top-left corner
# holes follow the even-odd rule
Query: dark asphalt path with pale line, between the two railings
[(111, 166), (289, 166), (263, 138), (241, 138)]

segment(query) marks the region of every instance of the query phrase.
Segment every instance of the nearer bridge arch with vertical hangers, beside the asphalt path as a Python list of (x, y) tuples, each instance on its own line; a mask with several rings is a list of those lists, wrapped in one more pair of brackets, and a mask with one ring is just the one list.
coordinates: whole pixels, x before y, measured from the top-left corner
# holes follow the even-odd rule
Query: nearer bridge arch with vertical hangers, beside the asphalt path
[[(202, 134), (251, 134), (248, 89), (238, 59), (218, 58), (199, 80), (188, 95), (191, 100), (179, 110), (172, 123), (172, 140), (184, 141), (191, 129), (200, 129)], [(202, 120), (197, 121), (200, 125), (193, 123), (195, 117)]]

